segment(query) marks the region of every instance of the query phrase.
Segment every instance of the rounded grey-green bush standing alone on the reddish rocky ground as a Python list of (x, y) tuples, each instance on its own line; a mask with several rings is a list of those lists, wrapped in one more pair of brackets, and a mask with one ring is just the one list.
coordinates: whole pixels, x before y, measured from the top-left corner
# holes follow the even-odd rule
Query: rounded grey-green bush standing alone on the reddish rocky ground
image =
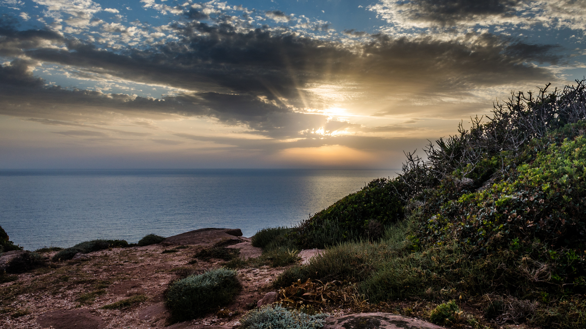
[(204, 316), (213, 307), (223, 306), (240, 292), (235, 270), (220, 268), (171, 283), (165, 303), (174, 322)]

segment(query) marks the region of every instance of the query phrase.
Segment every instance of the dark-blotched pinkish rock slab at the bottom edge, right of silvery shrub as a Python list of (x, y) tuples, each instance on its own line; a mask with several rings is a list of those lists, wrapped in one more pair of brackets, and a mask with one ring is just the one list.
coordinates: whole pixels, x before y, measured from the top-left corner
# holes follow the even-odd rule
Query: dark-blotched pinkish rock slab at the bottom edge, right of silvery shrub
[(323, 329), (445, 329), (437, 324), (392, 313), (356, 313), (326, 318)]

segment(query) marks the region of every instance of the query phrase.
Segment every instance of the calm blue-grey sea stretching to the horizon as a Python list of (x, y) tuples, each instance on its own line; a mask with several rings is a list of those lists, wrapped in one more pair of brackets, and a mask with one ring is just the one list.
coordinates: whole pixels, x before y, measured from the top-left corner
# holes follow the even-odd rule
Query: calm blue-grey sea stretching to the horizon
[(0, 225), (35, 250), (295, 225), (394, 170), (0, 170)]

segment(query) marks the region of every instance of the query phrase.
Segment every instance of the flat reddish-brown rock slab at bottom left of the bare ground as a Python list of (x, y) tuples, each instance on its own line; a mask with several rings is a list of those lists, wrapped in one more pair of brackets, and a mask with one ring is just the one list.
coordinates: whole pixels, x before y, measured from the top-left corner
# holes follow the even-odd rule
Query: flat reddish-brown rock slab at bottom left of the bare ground
[(104, 321), (88, 309), (55, 310), (41, 314), (37, 323), (54, 329), (104, 329)]

